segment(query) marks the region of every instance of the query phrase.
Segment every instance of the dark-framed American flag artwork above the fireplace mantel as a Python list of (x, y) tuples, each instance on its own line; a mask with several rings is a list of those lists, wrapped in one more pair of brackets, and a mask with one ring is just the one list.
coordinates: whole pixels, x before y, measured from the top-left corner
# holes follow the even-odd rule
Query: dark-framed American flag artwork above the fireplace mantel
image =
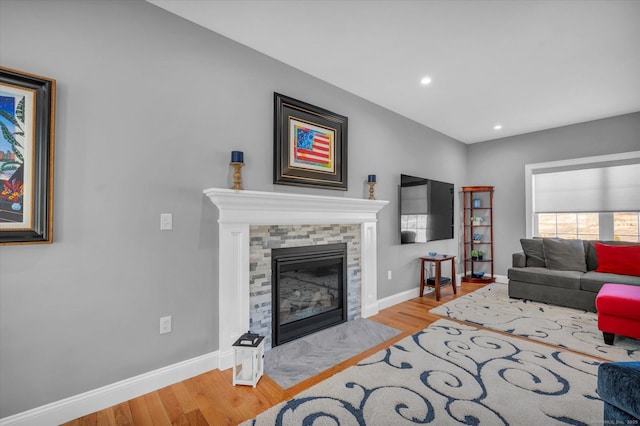
[(347, 117), (274, 93), (273, 183), (347, 190)]

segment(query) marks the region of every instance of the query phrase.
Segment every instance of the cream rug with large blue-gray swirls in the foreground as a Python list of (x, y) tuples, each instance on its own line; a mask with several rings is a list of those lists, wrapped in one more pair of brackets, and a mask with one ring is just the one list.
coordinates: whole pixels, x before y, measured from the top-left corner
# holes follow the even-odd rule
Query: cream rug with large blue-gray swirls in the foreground
[(244, 425), (585, 425), (598, 363), (438, 320)]

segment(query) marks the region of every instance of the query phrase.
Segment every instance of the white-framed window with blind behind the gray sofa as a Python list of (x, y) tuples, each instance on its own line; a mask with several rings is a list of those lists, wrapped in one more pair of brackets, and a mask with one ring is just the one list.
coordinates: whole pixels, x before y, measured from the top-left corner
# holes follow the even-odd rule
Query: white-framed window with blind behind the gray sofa
[(528, 236), (640, 242), (640, 151), (525, 166)]

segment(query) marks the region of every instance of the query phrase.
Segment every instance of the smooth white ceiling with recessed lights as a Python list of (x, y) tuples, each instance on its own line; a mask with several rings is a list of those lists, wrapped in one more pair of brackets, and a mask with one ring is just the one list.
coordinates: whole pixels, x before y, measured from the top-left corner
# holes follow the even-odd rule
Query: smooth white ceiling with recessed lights
[(640, 0), (147, 1), (465, 143), (640, 111)]

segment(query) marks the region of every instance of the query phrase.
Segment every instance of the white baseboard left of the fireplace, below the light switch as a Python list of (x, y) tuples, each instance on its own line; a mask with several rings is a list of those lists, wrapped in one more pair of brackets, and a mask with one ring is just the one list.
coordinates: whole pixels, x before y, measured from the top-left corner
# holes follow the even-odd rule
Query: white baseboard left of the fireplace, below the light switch
[(39, 426), (65, 423), (216, 368), (218, 368), (218, 352), (211, 352), (80, 395), (4, 417), (0, 419), (0, 426)]

